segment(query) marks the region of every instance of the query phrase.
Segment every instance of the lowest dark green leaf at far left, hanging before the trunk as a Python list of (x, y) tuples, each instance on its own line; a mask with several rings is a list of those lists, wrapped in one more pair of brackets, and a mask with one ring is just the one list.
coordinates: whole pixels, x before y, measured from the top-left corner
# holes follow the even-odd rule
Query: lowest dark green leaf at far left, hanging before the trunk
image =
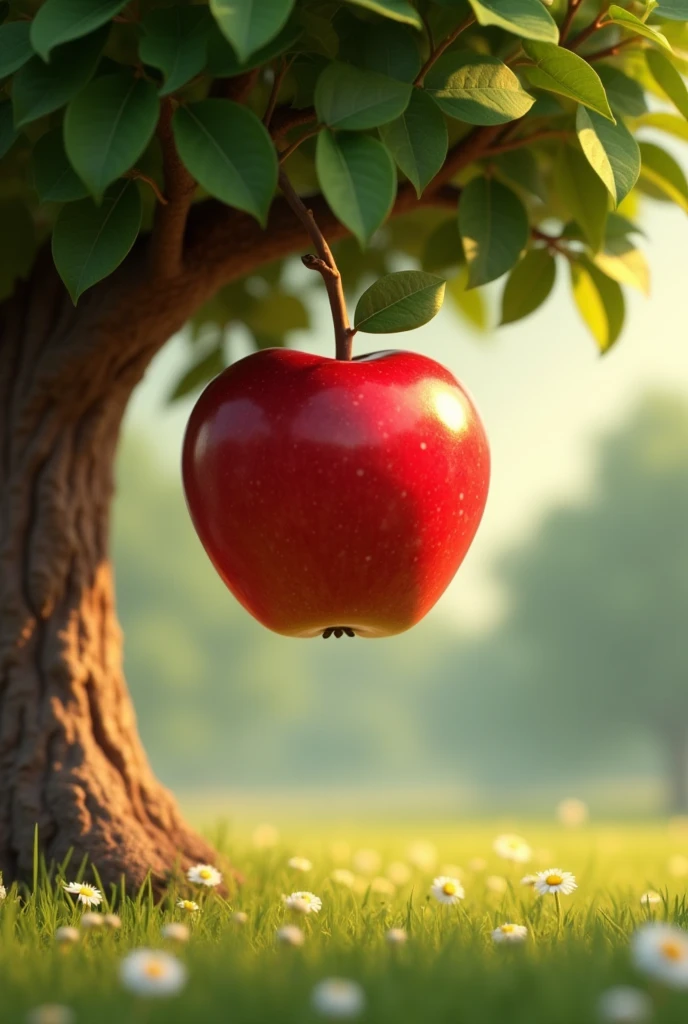
[(87, 288), (120, 265), (140, 224), (141, 201), (133, 181), (118, 181), (99, 206), (84, 199), (62, 207), (52, 232), (52, 258), (75, 305)]

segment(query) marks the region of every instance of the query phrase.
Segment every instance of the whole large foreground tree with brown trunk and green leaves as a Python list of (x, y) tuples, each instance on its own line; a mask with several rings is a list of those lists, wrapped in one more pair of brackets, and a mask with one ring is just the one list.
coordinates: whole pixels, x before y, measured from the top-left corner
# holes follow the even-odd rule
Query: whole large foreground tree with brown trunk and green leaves
[[(89, 854), (107, 882), (212, 856), (136, 736), (107, 556), (122, 415), (170, 335), (198, 328), (178, 393), (221, 368), (227, 325), (282, 343), (305, 315), (282, 261), (310, 238), (348, 357), (355, 323), (326, 239), (364, 247), (385, 224), (362, 254), (345, 246), (342, 268), (355, 288), (397, 251), (420, 259), (433, 279), (404, 279), (401, 326), (421, 322), (437, 270), (473, 314), (471, 290), (509, 273), (510, 323), (563, 262), (601, 348), (614, 342), (620, 284), (642, 286), (645, 267), (610, 207), (641, 189), (688, 209), (674, 159), (633, 134), (685, 134), (644, 90), (685, 114), (688, 6), (631, 2), (2, 4), (7, 877), (29, 870), (36, 823), (48, 857)], [(373, 286), (369, 313), (390, 287)]]

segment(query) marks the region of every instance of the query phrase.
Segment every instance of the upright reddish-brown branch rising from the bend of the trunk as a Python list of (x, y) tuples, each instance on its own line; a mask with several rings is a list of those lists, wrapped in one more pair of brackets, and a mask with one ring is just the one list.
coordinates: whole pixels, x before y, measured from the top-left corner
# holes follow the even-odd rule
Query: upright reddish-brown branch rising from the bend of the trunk
[(196, 181), (174, 144), (172, 114), (172, 101), (164, 99), (158, 137), (163, 151), (166, 203), (156, 206), (150, 237), (150, 268), (155, 278), (174, 278), (181, 272), (186, 217), (196, 191)]

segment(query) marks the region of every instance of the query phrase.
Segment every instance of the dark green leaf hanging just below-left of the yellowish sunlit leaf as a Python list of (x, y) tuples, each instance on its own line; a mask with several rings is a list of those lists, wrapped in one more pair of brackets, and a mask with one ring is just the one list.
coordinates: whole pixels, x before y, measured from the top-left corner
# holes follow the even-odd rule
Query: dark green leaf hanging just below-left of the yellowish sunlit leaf
[(427, 93), (414, 89), (404, 113), (383, 125), (380, 137), (420, 197), (446, 157), (447, 133), (441, 111)]

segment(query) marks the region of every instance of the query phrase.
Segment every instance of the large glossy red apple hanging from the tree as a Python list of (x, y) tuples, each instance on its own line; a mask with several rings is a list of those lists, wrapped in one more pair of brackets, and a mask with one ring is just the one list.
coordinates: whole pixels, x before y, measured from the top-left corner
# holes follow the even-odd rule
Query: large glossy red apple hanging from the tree
[(182, 471), (208, 555), (260, 623), (384, 637), (423, 618), (463, 561), (489, 451), (471, 399), (424, 355), (273, 348), (208, 385)]

